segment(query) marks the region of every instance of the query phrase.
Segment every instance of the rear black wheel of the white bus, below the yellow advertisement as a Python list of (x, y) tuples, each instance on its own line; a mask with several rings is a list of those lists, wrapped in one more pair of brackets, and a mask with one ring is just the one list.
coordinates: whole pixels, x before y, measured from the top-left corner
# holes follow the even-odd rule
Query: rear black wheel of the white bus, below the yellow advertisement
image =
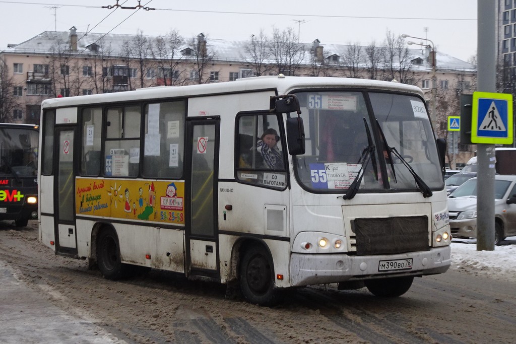
[(105, 228), (97, 237), (97, 265), (107, 280), (120, 280), (127, 276), (129, 267), (122, 264), (118, 236), (112, 228)]

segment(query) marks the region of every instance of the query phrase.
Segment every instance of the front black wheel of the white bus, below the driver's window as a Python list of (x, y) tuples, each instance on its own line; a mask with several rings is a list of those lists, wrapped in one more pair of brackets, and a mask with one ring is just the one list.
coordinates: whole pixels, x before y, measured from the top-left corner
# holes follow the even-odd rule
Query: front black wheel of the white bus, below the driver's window
[(240, 261), (240, 290), (244, 298), (260, 306), (273, 306), (279, 301), (274, 287), (272, 258), (262, 248), (250, 248)]

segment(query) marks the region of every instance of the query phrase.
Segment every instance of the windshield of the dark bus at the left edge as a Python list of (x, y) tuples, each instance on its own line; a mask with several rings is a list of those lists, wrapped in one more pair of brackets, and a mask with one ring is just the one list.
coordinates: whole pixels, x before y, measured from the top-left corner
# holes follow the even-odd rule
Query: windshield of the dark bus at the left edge
[(0, 177), (36, 176), (38, 139), (34, 129), (0, 128)]

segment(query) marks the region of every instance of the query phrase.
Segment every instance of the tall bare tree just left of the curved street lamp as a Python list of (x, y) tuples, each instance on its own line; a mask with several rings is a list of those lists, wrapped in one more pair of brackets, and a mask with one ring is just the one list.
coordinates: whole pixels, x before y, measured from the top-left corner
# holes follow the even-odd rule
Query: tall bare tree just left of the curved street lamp
[(410, 83), (412, 61), (405, 39), (394, 36), (391, 31), (385, 35), (385, 47), (383, 48), (383, 62), (386, 79), (396, 79), (400, 83)]

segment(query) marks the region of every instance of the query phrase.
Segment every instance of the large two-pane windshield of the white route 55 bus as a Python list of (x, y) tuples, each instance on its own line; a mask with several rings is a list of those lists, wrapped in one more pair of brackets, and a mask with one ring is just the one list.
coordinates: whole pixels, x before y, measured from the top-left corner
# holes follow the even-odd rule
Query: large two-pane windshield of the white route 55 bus
[(363, 170), (359, 192), (416, 190), (409, 167), (430, 189), (443, 187), (435, 138), (420, 98), (362, 91), (296, 95), (306, 151), (295, 157), (294, 169), (304, 188), (342, 192)]

